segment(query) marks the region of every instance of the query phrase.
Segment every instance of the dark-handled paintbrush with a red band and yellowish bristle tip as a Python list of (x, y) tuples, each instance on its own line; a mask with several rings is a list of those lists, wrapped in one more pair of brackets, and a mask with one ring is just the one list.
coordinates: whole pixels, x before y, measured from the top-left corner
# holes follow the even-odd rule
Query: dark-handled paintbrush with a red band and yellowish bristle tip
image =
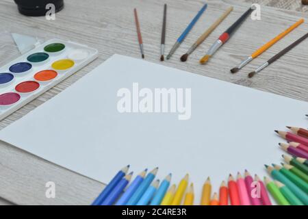
[(255, 10), (255, 7), (249, 8), (242, 16), (240, 16), (238, 21), (235, 21), (235, 23), (233, 23), (233, 25), (231, 27), (229, 27), (229, 29), (227, 29), (227, 31), (225, 31), (218, 38), (218, 40), (216, 40), (216, 42), (211, 46), (209, 51), (207, 51), (207, 54), (201, 58), (201, 60), (200, 60), (201, 64), (205, 64), (209, 61), (209, 58), (212, 57), (214, 55), (214, 53), (216, 53), (216, 51), (218, 51), (218, 49), (220, 47), (222, 47), (222, 45), (229, 40), (229, 38), (231, 38), (232, 34), (234, 34), (235, 31), (240, 27), (240, 25), (242, 25), (242, 23), (244, 23), (246, 18), (248, 18), (249, 14), (251, 14), (251, 12), (253, 12), (253, 10)]

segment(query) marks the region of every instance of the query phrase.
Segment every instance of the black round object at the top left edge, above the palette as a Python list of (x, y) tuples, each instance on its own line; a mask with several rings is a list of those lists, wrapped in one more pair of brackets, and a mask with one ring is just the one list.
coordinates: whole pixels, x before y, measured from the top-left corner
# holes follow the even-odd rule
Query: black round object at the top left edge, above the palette
[(18, 5), (18, 11), (25, 16), (45, 16), (49, 9), (46, 5), (53, 3), (55, 12), (64, 8), (64, 0), (14, 0)]

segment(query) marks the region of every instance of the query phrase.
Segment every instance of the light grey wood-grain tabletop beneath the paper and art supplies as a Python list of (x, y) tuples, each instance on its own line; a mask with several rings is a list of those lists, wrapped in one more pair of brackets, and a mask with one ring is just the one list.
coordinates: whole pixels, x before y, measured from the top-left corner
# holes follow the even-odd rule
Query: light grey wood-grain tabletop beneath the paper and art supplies
[[(231, 4), (235, 7), (248, 7), (251, 1), (248, 0), (209, 0), (209, 4)], [(261, 10), (272, 12), (270, 16), (295, 21), (294, 16), (307, 18), (307, 6), (300, 5), (300, 0), (259, 0), (253, 1), (262, 5)], [(90, 47), (99, 49), (99, 58), (79, 70), (78, 73), (69, 77), (59, 85), (55, 86), (36, 100), (25, 105), (8, 118), (0, 121), (0, 129), (3, 129), (18, 118), (21, 118), (38, 105), (51, 99), (53, 96), (70, 86), (80, 77), (86, 75), (95, 66), (98, 66), (110, 55), (119, 53), (140, 57), (136, 40), (135, 24), (133, 23), (132, 10), (138, 8), (142, 35), (144, 38), (144, 49), (146, 59), (151, 62), (158, 62), (157, 51), (159, 51), (159, 38), (161, 29), (161, 13), (157, 10), (162, 9), (163, 3), (168, 3), (168, 33), (166, 38), (166, 51), (169, 51), (185, 24), (190, 21), (196, 11), (201, 8), (203, 1), (198, 0), (66, 0), (66, 7), (62, 12), (56, 14), (55, 21), (47, 21), (44, 17), (31, 18), (18, 14), (16, 5), (11, 0), (0, 2), (0, 64), (3, 65), (10, 60), (18, 57), (18, 49), (12, 40), (11, 32), (37, 36), (38, 38), (61, 38), (88, 44)], [(270, 8), (274, 6), (276, 8)], [(287, 9), (287, 10), (284, 10)], [(296, 12), (298, 11), (298, 12)], [(239, 11), (240, 12), (240, 11)], [(239, 16), (238, 14), (237, 16)], [(282, 16), (283, 15), (283, 16)], [(270, 17), (266, 17), (270, 18)], [(266, 19), (264, 18), (264, 19)], [(230, 21), (231, 22), (231, 21)], [(229, 22), (229, 23), (230, 23)], [(183, 24), (184, 23), (184, 24)], [(172, 25), (171, 25), (172, 24)], [(231, 23), (230, 23), (231, 24)], [(185, 64), (180, 63), (177, 57), (183, 53), (190, 44), (201, 34), (206, 21), (199, 21), (191, 32), (190, 37), (185, 40), (182, 47), (172, 57), (169, 62), (164, 62), (166, 66), (188, 70), (193, 73), (215, 77), (231, 83), (238, 83), (267, 92), (289, 96), (294, 99), (308, 101), (308, 73), (307, 63), (308, 54), (296, 57), (294, 53), (287, 55), (282, 64), (272, 66), (272, 72), (258, 75), (254, 79), (248, 79), (246, 73), (267, 60), (274, 53), (285, 47), (281, 43), (270, 49), (265, 55), (261, 55), (259, 60), (242, 70), (237, 75), (227, 73), (230, 64), (236, 65), (246, 54), (240, 53), (237, 48), (241, 47), (241, 40), (234, 40), (233, 44), (224, 47), (226, 51), (233, 51), (232, 57), (226, 57), (223, 51), (216, 55), (211, 65), (219, 68), (217, 72), (206, 72), (206, 66), (196, 63), (196, 58), (200, 57), (204, 51), (217, 38), (218, 31), (224, 30), (224, 26), (218, 28), (216, 34), (212, 34), (201, 47), (192, 55), (192, 58)], [(306, 25), (306, 24), (305, 24)], [(227, 27), (227, 26), (226, 26)], [(222, 29), (221, 29), (222, 28)], [(302, 32), (304, 27), (300, 27)], [(305, 26), (307, 29), (307, 25)], [(153, 31), (154, 30), (154, 31)], [(244, 30), (241, 31), (244, 33)], [(253, 36), (257, 35), (254, 33)], [(266, 33), (265, 33), (266, 35)], [(294, 34), (292, 39), (296, 39), (300, 34)], [(270, 38), (270, 36), (264, 36)], [(290, 41), (292, 42), (292, 41)], [(307, 48), (307, 44), (305, 44)], [(242, 46), (243, 47), (243, 46)], [(244, 51), (253, 51), (254, 45), (244, 45)], [(227, 60), (225, 60), (227, 59)], [(222, 60), (228, 64), (222, 65)], [(290, 65), (297, 65), (298, 68), (290, 68)], [(306, 72), (303, 72), (303, 69)], [(103, 168), (102, 168), (103, 171)], [(45, 183), (53, 181), (56, 185), (55, 198), (46, 198)], [(0, 205), (88, 205), (99, 194), (103, 188), (103, 183), (88, 179), (70, 170), (66, 170), (55, 164), (45, 161), (39, 157), (31, 155), (21, 149), (0, 142)]]

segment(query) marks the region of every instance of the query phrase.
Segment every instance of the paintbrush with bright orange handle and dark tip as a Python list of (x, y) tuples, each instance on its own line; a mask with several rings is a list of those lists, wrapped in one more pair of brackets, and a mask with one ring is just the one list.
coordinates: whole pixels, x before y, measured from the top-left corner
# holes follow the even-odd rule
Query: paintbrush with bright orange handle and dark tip
[(299, 21), (294, 23), (291, 27), (285, 29), (281, 34), (279, 34), (278, 36), (276, 36), (275, 38), (273, 38), (272, 40), (270, 40), (269, 42), (264, 44), (262, 47), (260, 47), (256, 51), (254, 51), (253, 54), (251, 54), (249, 57), (247, 57), (246, 60), (244, 60), (239, 66), (232, 68), (231, 73), (233, 73), (233, 74), (237, 73), (241, 68), (246, 66), (246, 64), (248, 64), (249, 62), (251, 62), (252, 60), (257, 58), (259, 55), (261, 55), (262, 53), (264, 53), (268, 49), (270, 49), (270, 47), (272, 47), (272, 45), (274, 45), (276, 42), (278, 42), (279, 40), (281, 40), (282, 38), (287, 36), (287, 34), (290, 34), (290, 32), (292, 32), (294, 29), (296, 29), (296, 27), (298, 27), (302, 23), (304, 23), (304, 19), (300, 19)]

